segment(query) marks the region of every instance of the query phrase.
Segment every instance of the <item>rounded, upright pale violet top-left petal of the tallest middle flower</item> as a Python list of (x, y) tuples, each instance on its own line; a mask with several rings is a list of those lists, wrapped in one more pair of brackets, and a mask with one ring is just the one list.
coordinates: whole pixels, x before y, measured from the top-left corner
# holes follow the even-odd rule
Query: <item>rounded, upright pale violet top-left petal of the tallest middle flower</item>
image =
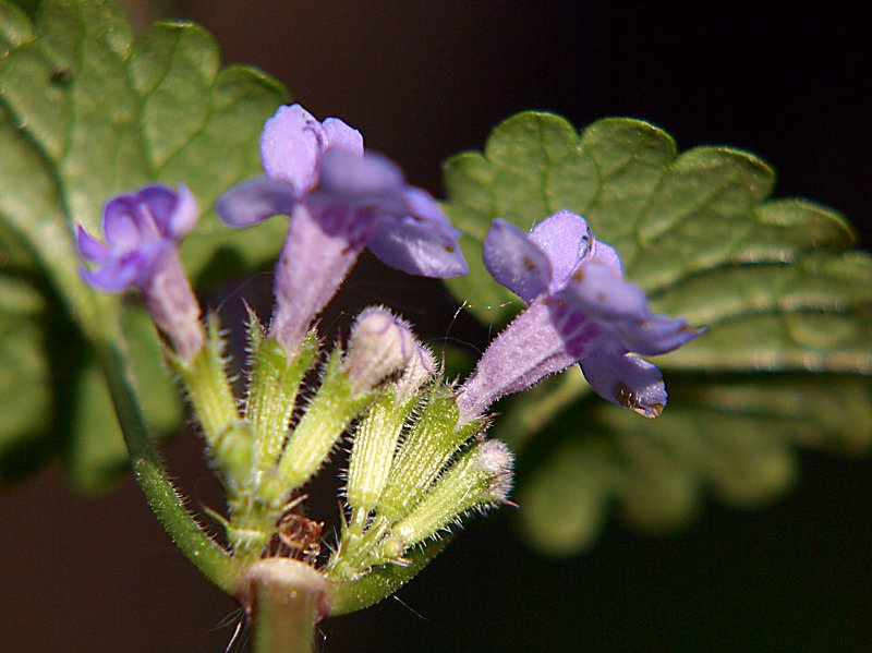
[(279, 107), (261, 133), (264, 172), (269, 179), (289, 183), (296, 195), (308, 192), (317, 181), (325, 141), (324, 128), (303, 107)]

